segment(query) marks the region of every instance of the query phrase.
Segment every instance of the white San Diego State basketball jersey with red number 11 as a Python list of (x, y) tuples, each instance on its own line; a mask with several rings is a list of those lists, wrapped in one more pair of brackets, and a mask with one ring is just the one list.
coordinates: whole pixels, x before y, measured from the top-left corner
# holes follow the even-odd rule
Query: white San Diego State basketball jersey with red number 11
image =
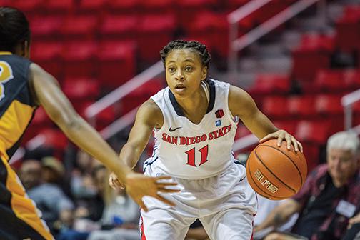
[(169, 87), (151, 96), (162, 111), (164, 124), (154, 129), (154, 154), (145, 168), (152, 165), (169, 176), (204, 179), (231, 166), (237, 120), (229, 110), (230, 84), (213, 79), (207, 83), (209, 107), (199, 124), (186, 118)]

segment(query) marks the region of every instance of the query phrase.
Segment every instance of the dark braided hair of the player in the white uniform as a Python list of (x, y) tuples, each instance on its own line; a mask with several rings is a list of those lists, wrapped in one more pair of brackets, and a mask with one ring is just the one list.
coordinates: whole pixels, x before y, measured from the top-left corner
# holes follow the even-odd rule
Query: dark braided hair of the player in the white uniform
[(209, 63), (211, 61), (211, 55), (206, 49), (204, 44), (201, 44), (199, 41), (186, 41), (186, 40), (175, 40), (170, 41), (169, 44), (164, 46), (160, 51), (161, 61), (165, 66), (166, 56), (174, 50), (174, 49), (190, 49), (191, 51), (195, 51), (196, 54), (199, 54), (201, 59), (201, 64), (203, 66), (209, 67)]

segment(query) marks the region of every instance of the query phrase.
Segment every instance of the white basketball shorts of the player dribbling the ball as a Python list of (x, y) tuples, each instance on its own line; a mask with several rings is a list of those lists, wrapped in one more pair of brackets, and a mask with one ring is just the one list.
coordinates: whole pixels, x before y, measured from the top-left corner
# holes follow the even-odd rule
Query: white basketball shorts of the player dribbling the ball
[[(146, 176), (161, 176), (147, 166)], [(249, 240), (256, 214), (256, 194), (246, 179), (246, 169), (232, 164), (218, 176), (189, 180), (173, 177), (179, 193), (161, 194), (173, 201), (169, 206), (144, 197), (149, 211), (141, 210), (141, 240), (181, 240), (189, 226), (199, 219), (211, 240)]]

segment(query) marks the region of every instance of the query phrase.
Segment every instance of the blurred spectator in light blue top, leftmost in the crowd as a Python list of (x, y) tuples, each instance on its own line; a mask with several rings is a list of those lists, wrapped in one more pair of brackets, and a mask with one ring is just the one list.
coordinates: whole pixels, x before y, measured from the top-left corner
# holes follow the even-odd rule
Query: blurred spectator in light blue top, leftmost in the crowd
[(66, 212), (74, 209), (73, 202), (59, 186), (44, 183), (41, 162), (38, 160), (25, 160), (21, 165), (19, 177), (27, 194), (41, 211), (49, 229), (54, 231), (54, 222), (59, 219), (59, 216), (66, 216), (68, 215)]

